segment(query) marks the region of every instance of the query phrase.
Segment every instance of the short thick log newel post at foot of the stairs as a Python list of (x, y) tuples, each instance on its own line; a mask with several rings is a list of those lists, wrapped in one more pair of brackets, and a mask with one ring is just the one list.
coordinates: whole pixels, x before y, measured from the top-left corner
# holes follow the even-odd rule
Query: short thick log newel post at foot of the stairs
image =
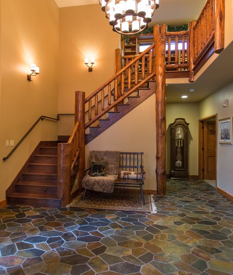
[(61, 206), (70, 203), (71, 192), (71, 146), (68, 143), (58, 143), (58, 189), (57, 197), (62, 199)]

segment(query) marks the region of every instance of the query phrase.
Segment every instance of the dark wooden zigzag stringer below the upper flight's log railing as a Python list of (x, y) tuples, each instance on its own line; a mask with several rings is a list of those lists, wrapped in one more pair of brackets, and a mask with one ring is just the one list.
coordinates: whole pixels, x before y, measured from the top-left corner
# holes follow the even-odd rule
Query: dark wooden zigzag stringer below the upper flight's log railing
[(124, 115), (129, 113), (131, 110), (135, 109), (141, 103), (143, 103), (148, 97), (155, 93), (156, 81), (148, 81), (147, 88), (145, 87), (138, 89), (139, 97), (130, 97), (128, 102), (123, 105), (118, 105), (117, 112), (108, 112), (109, 118), (99, 119), (99, 125), (97, 127), (89, 127), (90, 133), (86, 134), (86, 144), (89, 143), (94, 138), (98, 137), (101, 133), (107, 130), (110, 126), (116, 123)]

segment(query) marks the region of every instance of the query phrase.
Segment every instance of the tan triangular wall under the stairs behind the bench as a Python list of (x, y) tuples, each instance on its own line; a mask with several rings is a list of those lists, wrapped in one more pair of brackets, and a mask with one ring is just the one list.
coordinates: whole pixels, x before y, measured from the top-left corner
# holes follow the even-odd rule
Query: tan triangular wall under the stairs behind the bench
[[(144, 189), (156, 190), (155, 94), (86, 145), (90, 150), (144, 152)], [(89, 167), (89, 159), (86, 159)]]

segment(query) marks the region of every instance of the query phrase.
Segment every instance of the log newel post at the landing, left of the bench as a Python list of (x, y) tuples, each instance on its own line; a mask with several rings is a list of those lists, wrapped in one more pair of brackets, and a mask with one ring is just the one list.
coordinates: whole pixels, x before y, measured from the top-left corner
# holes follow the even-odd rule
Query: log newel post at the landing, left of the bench
[(85, 92), (75, 92), (75, 124), (79, 121), (79, 192), (85, 170)]

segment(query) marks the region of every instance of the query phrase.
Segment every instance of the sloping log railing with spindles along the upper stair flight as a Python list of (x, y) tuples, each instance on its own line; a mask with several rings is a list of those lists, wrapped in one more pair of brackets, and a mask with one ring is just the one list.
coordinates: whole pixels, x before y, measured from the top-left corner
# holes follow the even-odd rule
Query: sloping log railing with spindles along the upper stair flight
[[(153, 48), (154, 44), (129, 61), (112, 78), (85, 99), (85, 104), (88, 105), (88, 122), (85, 128), (88, 128), (113, 108), (117, 111), (118, 104), (123, 103), (125, 98), (154, 76), (154, 71), (152, 71)], [(125, 86), (126, 77), (127, 83)], [(112, 87), (114, 87), (114, 95), (112, 95)], [(125, 87), (128, 88), (127, 93), (125, 93)]]

